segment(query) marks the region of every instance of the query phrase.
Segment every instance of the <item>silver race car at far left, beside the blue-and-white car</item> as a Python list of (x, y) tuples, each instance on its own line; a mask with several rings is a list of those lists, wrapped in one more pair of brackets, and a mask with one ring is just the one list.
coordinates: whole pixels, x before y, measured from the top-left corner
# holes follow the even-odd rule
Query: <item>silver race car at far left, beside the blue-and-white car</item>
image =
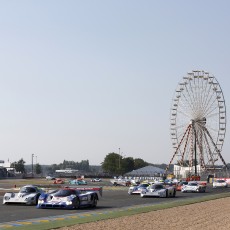
[(38, 197), (45, 191), (35, 185), (25, 185), (18, 193), (7, 192), (3, 197), (3, 204), (36, 205)]

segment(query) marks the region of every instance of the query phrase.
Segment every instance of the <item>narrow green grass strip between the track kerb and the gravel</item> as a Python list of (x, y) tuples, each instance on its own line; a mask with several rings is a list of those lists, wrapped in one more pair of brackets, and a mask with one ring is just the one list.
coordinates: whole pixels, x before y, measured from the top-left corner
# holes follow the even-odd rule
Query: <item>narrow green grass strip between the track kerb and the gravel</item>
[[(97, 215), (91, 215), (87, 217), (79, 217), (77, 216), (69, 216), (65, 219), (56, 219), (52, 221), (47, 221), (47, 222), (39, 222), (39, 224), (29, 224), (25, 225), (22, 227), (10, 227), (10, 229), (14, 230), (45, 230), (45, 229), (58, 229), (60, 227), (64, 226), (71, 226), (71, 225), (76, 225), (76, 224), (83, 224), (83, 223), (89, 223), (89, 222), (95, 222), (95, 221), (100, 221), (100, 220), (107, 220), (107, 219), (114, 219), (118, 218), (121, 216), (131, 216), (135, 214), (140, 214), (140, 213), (146, 213), (150, 211), (156, 211), (156, 210), (162, 210), (162, 209), (168, 209), (168, 208), (173, 208), (173, 207), (179, 207), (183, 205), (189, 205), (189, 204), (194, 204), (194, 203), (200, 203), (200, 202), (205, 202), (209, 200), (215, 200), (215, 199), (220, 199), (220, 198), (225, 198), (225, 197), (230, 197), (230, 193), (222, 193), (222, 194), (216, 194), (216, 195), (207, 195), (205, 197), (200, 197), (200, 198), (191, 198), (191, 199), (186, 199), (186, 200), (180, 200), (178, 201), (177, 199), (169, 199), (169, 202), (165, 202), (163, 204), (155, 204), (155, 205), (150, 205), (150, 206), (135, 206), (131, 207), (129, 209), (119, 209), (119, 210), (113, 210), (113, 211), (108, 211), (104, 213), (100, 213), (98, 210), (95, 210)], [(82, 214), (84, 215), (84, 214)]]

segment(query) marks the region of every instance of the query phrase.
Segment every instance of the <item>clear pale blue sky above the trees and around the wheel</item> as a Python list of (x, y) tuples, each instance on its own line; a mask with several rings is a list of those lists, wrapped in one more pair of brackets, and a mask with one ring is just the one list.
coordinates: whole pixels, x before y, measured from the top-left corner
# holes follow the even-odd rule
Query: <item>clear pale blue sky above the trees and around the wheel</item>
[[(171, 101), (187, 72), (217, 78), (230, 117), (229, 9), (228, 0), (1, 0), (0, 160), (99, 165), (120, 148), (169, 163)], [(222, 155), (230, 162), (229, 125)]]

